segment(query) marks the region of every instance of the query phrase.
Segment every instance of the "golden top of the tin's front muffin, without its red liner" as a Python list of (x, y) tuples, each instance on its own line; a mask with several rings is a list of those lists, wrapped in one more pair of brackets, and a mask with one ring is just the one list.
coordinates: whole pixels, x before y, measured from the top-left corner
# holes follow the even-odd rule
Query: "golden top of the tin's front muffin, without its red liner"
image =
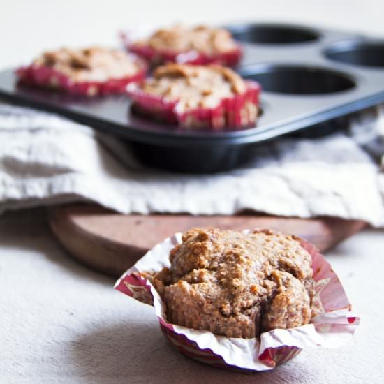
[(232, 71), (218, 65), (167, 64), (154, 71), (141, 86), (147, 94), (178, 101), (180, 111), (214, 108), (224, 99), (246, 90), (246, 83)]

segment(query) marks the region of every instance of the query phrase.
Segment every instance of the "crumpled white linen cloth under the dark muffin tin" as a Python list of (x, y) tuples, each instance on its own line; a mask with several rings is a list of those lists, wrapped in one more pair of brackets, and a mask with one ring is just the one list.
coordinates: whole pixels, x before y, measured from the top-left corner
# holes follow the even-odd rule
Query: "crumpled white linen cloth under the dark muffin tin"
[(382, 112), (348, 133), (266, 144), (214, 175), (145, 168), (112, 136), (61, 117), (0, 105), (0, 212), (87, 200), (123, 213), (330, 215), (384, 226)]

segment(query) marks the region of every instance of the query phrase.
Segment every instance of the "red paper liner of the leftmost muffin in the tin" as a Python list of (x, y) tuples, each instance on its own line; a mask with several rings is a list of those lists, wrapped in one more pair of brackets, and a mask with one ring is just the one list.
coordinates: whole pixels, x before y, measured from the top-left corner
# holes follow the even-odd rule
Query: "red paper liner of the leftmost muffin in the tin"
[(108, 94), (124, 94), (126, 86), (131, 82), (145, 79), (147, 65), (141, 59), (136, 59), (139, 69), (133, 76), (110, 79), (105, 82), (74, 82), (70, 77), (48, 66), (31, 64), (18, 68), (16, 71), (19, 81), (32, 87), (50, 88), (65, 91), (68, 94), (96, 96)]

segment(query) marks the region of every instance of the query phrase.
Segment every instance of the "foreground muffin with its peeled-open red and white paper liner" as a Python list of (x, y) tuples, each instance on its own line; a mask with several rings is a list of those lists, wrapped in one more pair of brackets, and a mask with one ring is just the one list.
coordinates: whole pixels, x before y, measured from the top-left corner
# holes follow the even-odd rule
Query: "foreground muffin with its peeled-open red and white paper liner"
[(270, 230), (175, 233), (115, 289), (152, 305), (180, 353), (246, 373), (274, 369), (303, 349), (339, 348), (360, 323), (316, 247)]

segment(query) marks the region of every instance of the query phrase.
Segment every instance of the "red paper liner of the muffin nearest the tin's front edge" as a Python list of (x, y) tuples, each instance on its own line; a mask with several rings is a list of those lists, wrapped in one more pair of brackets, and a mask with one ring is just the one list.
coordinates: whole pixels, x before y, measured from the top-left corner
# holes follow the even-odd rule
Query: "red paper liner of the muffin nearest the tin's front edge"
[(221, 131), (254, 126), (258, 116), (260, 85), (247, 81), (244, 94), (225, 98), (215, 108), (195, 108), (180, 111), (177, 101), (168, 101), (161, 96), (142, 91), (138, 84), (129, 84), (128, 96), (134, 101), (134, 108), (142, 115), (177, 124), (184, 128), (211, 128)]

